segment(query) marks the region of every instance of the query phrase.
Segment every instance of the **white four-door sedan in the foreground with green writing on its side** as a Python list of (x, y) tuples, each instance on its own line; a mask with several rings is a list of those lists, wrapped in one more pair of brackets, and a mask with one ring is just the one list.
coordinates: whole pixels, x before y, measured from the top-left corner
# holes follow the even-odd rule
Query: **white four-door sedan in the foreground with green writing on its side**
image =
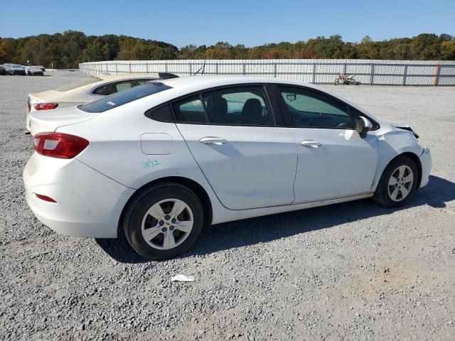
[(148, 82), (31, 114), (23, 172), (36, 217), (60, 234), (126, 234), (149, 259), (203, 227), (366, 197), (403, 205), (432, 160), (410, 126), (314, 85), (259, 77)]

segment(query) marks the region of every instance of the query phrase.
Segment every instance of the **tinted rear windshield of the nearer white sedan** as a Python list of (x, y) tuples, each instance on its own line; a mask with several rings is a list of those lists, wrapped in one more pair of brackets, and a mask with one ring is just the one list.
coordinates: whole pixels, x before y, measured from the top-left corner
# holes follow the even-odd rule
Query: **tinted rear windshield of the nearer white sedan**
[(123, 104), (133, 102), (136, 99), (150, 96), (151, 94), (156, 94), (157, 92), (168, 89), (171, 89), (171, 87), (168, 87), (168, 85), (164, 85), (161, 82), (149, 82), (143, 85), (138, 85), (137, 87), (132, 87), (131, 89), (116, 92), (115, 94), (110, 94), (109, 96), (98, 99), (95, 102), (81, 105), (79, 109), (85, 112), (105, 112), (109, 109), (117, 108)]

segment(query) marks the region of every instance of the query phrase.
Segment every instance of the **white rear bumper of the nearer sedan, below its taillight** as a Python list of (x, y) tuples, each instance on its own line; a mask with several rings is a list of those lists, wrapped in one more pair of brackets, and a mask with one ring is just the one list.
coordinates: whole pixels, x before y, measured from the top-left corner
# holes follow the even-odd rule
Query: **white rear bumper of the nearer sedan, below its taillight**
[[(85, 166), (34, 153), (23, 171), (28, 206), (59, 234), (115, 238), (120, 214), (134, 190)], [(35, 193), (56, 202), (39, 199)]]

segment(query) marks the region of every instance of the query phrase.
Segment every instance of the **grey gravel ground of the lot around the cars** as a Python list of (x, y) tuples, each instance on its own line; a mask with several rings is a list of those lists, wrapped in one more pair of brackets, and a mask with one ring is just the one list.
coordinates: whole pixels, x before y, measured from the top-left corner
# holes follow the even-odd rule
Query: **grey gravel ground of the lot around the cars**
[(327, 87), (432, 148), (430, 183), (407, 207), (220, 224), (153, 262), (124, 240), (55, 234), (26, 205), (26, 94), (78, 77), (0, 76), (0, 340), (455, 340), (454, 88)]

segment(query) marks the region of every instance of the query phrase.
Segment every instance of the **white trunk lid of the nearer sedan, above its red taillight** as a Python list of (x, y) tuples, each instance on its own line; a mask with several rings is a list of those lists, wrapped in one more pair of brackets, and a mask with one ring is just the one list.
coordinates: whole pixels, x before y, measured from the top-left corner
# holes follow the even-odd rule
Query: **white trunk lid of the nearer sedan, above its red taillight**
[(96, 115), (97, 113), (83, 112), (77, 107), (31, 112), (31, 134), (55, 131), (61, 126), (88, 121)]

